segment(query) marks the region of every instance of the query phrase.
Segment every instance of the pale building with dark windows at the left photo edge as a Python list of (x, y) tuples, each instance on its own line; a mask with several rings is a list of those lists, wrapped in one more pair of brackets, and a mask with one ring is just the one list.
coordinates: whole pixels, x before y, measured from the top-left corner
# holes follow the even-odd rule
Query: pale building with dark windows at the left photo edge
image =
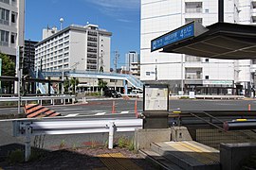
[(24, 45), (25, 0), (0, 0), (0, 52), (16, 56), (16, 47)]

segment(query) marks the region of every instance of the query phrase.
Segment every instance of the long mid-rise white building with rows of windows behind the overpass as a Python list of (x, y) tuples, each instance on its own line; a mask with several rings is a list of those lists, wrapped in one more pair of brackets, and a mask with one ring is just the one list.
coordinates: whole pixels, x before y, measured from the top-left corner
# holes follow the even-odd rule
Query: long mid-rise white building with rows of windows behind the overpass
[[(46, 31), (54, 34), (46, 34)], [(48, 35), (48, 36), (46, 36)], [(111, 32), (96, 25), (71, 25), (63, 30), (44, 30), (44, 39), (36, 44), (35, 70), (43, 72), (110, 72)]]

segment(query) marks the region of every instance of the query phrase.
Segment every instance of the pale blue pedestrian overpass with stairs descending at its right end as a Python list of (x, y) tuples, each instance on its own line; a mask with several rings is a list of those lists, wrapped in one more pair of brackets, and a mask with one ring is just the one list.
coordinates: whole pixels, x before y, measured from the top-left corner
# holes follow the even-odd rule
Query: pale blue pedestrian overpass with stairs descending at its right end
[[(42, 72), (43, 76), (60, 77), (63, 76), (63, 72)], [(128, 83), (139, 90), (143, 90), (143, 83), (137, 79), (136, 76), (117, 74), (117, 73), (103, 73), (103, 72), (91, 72), (91, 71), (64, 71), (64, 76), (78, 77), (78, 78), (101, 78), (101, 79), (117, 79), (123, 80), (125, 93), (127, 93)]]

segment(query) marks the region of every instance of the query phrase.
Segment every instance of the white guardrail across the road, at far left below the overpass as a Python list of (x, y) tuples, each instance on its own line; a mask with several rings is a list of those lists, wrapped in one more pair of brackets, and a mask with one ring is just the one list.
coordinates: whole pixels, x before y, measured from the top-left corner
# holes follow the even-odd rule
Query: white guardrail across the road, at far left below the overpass
[[(43, 100), (51, 100), (51, 103), (54, 105), (55, 100), (61, 99), (65, 104), (65, 99), (72, 100), (72, 103), (75, 102), (75, 95), (57, 95), (57, 96), (22, 96), (21, 101), (25, 101), (27, 105), (27, 101), (38, 101), (42, 105)], [(0, 97), (0, 102), (18, 102), (19, 97)]]

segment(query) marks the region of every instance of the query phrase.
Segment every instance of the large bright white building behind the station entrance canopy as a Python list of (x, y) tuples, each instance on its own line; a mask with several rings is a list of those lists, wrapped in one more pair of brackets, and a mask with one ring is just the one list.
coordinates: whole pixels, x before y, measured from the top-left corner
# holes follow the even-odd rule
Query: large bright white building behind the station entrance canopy
[[(224, 21), (256, 23), (255, 0), (225, 0)], [(254, 87), (256, 60), (208, 59), (151, 52), (151, 41), (177, 27), (196, 21), (218, 22), (218, 0), (141, 0), (140, 79), (168, 83), (171, 93), (249, 94)]]

